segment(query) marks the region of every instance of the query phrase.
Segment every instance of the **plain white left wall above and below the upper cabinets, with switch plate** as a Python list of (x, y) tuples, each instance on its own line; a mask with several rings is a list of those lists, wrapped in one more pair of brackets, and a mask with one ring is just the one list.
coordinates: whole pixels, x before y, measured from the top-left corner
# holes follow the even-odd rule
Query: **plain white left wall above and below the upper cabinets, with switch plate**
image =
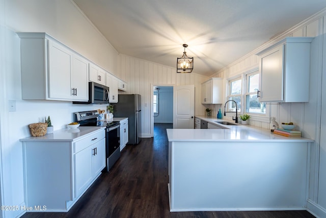
[[(22, 146), (30, 137), (28, 125), (50, 116), (54, 129), (73, 121), (73, 112), (96, 110), (105, 105), (73, 105), (64, 101), (21, 99), (20, 39), (16, 32), (46, 32), (112, 73), (117, 73), (118, 52), (71, 1), (0, 0), (0, 139), (2, 205), (24, 205)], [(3, 7), (4, 6), (4, 7)], [(16, 112), (9, 112), (15, 100)], [(24, 211), (2, 211), (16, 217)]]

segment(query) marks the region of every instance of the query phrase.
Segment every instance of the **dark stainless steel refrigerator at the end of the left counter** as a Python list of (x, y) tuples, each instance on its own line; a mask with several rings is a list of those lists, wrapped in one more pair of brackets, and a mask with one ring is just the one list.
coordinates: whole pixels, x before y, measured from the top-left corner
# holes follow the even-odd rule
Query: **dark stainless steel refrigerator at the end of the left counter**
[(141, 120), (141, 95), (139, 94), (119, 94), (118, 103), (114, 105), (114, 117), (128, 118), (128, 144), (138, 144), (141, 141), (142, 120)]

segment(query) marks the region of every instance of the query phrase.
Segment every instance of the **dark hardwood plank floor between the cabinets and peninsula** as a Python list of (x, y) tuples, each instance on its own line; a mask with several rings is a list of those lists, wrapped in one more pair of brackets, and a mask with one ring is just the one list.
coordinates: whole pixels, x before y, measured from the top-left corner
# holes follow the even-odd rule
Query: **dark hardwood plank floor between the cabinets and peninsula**
[(314, 217), (307, 211), (170, 212), (166, 128), (172, 124), (155, 124), (154, 138), (127, 145), (111, 172), (102, 173), (69, 212), (22, 217)]

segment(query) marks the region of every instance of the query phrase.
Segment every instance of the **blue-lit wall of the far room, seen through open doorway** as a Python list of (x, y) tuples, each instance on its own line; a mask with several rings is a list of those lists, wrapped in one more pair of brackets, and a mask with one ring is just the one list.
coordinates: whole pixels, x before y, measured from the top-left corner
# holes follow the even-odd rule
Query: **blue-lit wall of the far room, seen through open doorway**
[(158, 92), (158, 114), (154, 123), (173, 123), (173, 87), (160, 89)]

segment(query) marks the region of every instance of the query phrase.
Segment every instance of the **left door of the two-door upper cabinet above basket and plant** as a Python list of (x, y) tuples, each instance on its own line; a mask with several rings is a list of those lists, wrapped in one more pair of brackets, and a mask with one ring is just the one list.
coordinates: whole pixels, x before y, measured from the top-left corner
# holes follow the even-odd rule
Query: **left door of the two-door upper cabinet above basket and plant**
[(49, 98), (71, 99), (70, 74), (72, 52), (63, 45), (49, 40)]

